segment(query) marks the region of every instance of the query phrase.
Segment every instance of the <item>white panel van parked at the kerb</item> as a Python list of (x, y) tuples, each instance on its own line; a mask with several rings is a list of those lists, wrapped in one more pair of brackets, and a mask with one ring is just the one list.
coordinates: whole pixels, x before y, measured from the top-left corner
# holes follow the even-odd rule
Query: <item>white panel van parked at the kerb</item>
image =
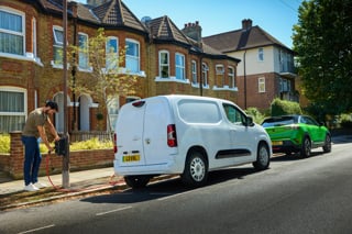
[(233, 102), (196, 96), (158, 96), (124, 104), (114, 134), (114, 171), (132, 188), (176, 174), (204, 186), (208, 171), (248, 163), (266, 169), (266, 131)]

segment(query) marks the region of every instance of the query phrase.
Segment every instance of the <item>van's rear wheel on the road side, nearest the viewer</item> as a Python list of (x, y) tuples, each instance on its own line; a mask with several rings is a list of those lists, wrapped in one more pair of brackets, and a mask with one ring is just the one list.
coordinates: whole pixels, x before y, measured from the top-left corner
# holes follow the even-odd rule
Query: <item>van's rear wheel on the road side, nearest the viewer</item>
[(207, 182), (207, 178), (208, 164), (206, 157), (200, 152), (190, 152), (182, 175), (183, 182), (190, 187), (201, 187)]

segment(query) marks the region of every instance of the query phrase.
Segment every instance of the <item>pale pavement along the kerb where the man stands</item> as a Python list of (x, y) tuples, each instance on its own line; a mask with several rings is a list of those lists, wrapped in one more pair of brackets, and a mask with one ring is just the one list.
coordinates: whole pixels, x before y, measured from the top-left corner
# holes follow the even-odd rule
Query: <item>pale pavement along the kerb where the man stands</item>
[[(332, 144), (344, 144), (352, 143), (352, 135), (332, 135)], [(100, 169), (90, 169), (90, 170), (81, 170), (74, 171), (68, 174), (68, 188), (63, 188), (63, 175), (46, 175), (38, 178), (40, 182), (46, 183), (48, 188), (41, 189), (35, 192), (24, 191), (24, 182), (21, 180), (13, 180), (4, 175), (0, 174), (0, 201), (1, 199), (14, 199), (16, 196), (29, 196), (28, 193), (48, 193), (50, 197), (43, 196), (38, 199), (34, 199), (34, 201), (29, 201), (26, 203), (16, 203), (16, 204), (1, 204), (0, 210), (7, 210), (15, 207), (26, 205), (31, 203), (40, 203), (44, 201), (51, 201), (55, 199), (63, 199), (67, 197), (75, 197), (85, 193), (99, 192), (109, 189), (122, 189), (127, 188), (124, 183), (123, 177), (116, 176), (113, 171), (113, 167), (100, 168)], [(167, 177), (167, 176), (166, 176)], [(165, 178), (164, 176), (161, 179)], [(155, 179), (157, 180), (157, 178)], [(53, 194), (53, 191), (57, 191), (57, 196)]]

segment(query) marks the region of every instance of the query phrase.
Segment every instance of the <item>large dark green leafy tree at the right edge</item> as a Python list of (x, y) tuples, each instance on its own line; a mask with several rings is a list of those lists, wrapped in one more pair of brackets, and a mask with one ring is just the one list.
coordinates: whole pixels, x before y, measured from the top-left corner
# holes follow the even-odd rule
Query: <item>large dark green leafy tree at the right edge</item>
[(294, 25), (302, 93), (323, 114), (352, 110), (351, 12), (351, 0), (306, 0)]

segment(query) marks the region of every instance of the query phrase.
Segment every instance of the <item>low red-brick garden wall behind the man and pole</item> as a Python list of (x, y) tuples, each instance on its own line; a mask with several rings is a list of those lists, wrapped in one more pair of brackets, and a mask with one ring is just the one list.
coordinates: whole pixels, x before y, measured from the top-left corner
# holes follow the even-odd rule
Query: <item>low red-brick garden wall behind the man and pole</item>
[[(11, 176), (13, 179), (23, 178), (24, 147), (21, 142), (22, 132), (10, 133), (11, 152), (0, 154), (0, 169)], [(48, 160), (47, 160), (47, 157)], [(112, 166), (113, 149), (91, 149), (70, 152), (69, 166), (70, 171), (101, 168)], [(46, 170), (50, 175), (62, 172), (63, 157), (55, 154), (42, 154), (42, 164), (40, 175), (45, 176)]]

